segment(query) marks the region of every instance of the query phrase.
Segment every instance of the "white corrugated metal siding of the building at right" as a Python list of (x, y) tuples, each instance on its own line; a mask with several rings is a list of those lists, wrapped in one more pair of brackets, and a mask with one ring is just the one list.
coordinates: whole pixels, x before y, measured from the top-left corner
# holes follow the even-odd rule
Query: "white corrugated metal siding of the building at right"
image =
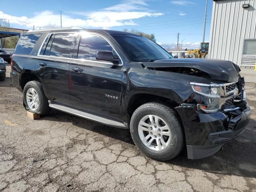
[[(242, 8), (250, 4), (249, 8)], [(212, 6), (208, 58), (241, 65), (244, 39), (256, 38), (256, 0), (218, 0)]]

